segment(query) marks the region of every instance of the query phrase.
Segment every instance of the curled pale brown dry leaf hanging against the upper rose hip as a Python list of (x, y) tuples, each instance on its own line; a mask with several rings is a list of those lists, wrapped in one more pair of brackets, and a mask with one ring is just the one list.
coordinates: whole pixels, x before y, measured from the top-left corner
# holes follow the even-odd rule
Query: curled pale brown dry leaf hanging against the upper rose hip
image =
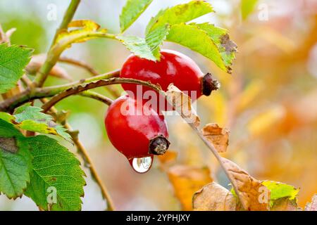
[(180, 91), (177, 86), (170, 84), (166, 91), (166, 99), (187, 123), (199, 127), (200, 119), (192, 108), (192, 100), (189, 96)]

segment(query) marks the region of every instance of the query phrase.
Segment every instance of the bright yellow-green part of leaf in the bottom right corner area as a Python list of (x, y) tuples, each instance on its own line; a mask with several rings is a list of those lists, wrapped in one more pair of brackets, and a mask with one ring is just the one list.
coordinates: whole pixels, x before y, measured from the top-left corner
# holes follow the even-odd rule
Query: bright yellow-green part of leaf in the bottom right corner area
[(263, 181), (262, 184), (271, 191), (270, 206), (272, 207), (276, 200), (280, 198), (288, 198), (295, 200), (299, 193), (299, 188), (289, 184), (283, 184), (277, 181)]

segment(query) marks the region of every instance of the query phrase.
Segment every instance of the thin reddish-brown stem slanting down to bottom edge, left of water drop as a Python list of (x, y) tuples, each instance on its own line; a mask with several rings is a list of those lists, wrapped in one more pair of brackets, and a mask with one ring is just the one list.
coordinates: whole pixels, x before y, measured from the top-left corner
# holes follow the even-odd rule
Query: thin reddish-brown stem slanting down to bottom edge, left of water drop
[[(41, 99), (42, 103), (47, 103), (48, 100), (46, 98)], [(56, 108), (52, 107), (50, 109), (51, 113), (57, 113)], [(72, 127), (70, 127), (70, 124), (68, 122), (65, 122), (64, 127), (68, 129), (69, 131), (73, 130)], [(104, 185), (104, 183), (101, 181), (97, 169), (94, 167), (94, 163), (92, 162), (92, 159), (89, 157), (89, 154), (87, 153), (87, 150), (85, 146), (82, 144), (80, 139), (78, 139), (77, 136), (72, 136), (72, 139), (74, 141), (75, 146), (77, 146), (78, 153), (82, 155), (83, 160), (85, 161), (85, 164), (89, 168), (90, 173), (92, 174), (92, 178), (97, 182), (99, 188), (101, 189), (101, 194), (104, 197), (104, 199), (107, 201), (107, 209), (108, 211), (113, 211), (114, 210), (114, 205), (113, 201), (108, 193), (108, 189)]]

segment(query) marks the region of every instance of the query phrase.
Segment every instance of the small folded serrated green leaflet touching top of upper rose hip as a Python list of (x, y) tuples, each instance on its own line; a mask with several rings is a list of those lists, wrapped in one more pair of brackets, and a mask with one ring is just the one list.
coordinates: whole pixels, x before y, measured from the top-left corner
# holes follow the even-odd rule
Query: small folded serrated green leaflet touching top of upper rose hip
[(147, 37), (145, 37), (145, 41), (147, 42), (149, 49), (151, 49), (151, 52), (157, 60), (161, 58), (160, 46), (166, 39), (169, 30), (170, 26), (166, 24), (165, 26), (161, 26), (153, 30), (147, 34)]

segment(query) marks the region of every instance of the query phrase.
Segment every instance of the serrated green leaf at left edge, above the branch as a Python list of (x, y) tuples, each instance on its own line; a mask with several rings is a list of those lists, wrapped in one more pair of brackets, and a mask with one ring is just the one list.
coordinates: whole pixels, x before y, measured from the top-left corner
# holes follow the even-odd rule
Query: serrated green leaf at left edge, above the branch
[(32, 49), (0, 44), (0, 94), (13, 89), (30, 62)]

